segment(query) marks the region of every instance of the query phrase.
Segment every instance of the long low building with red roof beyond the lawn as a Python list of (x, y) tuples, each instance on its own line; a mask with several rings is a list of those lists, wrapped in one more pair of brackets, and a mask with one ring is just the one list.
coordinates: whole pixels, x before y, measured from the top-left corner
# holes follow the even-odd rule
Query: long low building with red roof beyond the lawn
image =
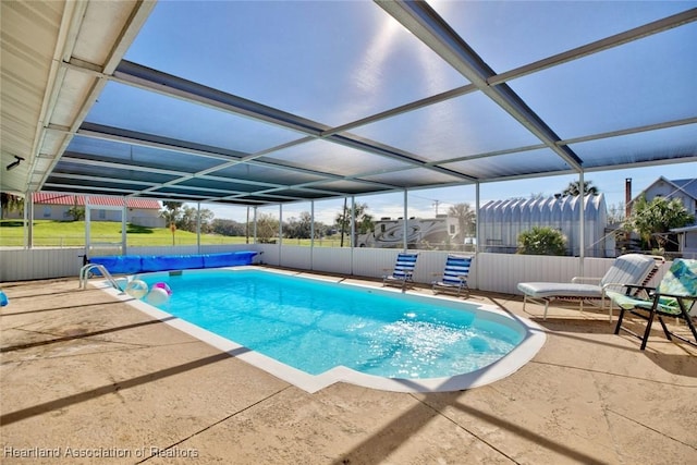
[[(72, 207), (85, 207), (84, 195), (51, 194), (37, 192), (32, 195), (35, 220), (69, 221)], [(93, 221), (121, 222), (123, 198), (101, 195), (89, 196), (90, 219)], [(164, 219), (160, 218), (161, 205), (158, 200), (126, 197), (126, 222), (139, 227), (164, 228)], [(17, 211), (8, 212), (8, 219), (22, 218)]]

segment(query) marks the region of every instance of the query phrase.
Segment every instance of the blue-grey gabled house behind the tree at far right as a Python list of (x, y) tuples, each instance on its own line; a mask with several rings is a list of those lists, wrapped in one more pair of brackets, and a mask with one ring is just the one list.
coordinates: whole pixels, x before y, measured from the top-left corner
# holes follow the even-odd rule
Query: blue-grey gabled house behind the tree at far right
[[(697, 179), (667, 180), (661, 176), (651, 185), (641, 191), (632, 203), (640, 197), (651, 201), (656, 197), (669, 199), (677, 198), (683, 206), (697, 218)], [(697, 224), (678, 228), (671, 231), (675, 234), (674, 245), (676, 250), (686, 258), (697, 257)]]

